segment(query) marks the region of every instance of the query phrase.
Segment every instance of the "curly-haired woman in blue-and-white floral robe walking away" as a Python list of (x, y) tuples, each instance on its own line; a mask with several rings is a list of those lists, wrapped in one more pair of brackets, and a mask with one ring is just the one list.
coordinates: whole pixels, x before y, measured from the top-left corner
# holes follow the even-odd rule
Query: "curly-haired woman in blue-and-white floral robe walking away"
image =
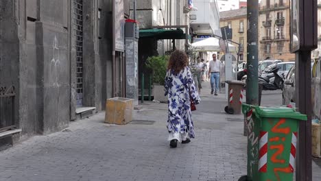
[(191, 101), (200, 104), (198, 90), (195, 87), (188, 58), (184, 51), (171, 53), (165, 77), (165, 95), (168, 95), (167, 130), (170, 147), (177, 143), (189, 143), (194, 138), (194, 126), (191, 119)]

